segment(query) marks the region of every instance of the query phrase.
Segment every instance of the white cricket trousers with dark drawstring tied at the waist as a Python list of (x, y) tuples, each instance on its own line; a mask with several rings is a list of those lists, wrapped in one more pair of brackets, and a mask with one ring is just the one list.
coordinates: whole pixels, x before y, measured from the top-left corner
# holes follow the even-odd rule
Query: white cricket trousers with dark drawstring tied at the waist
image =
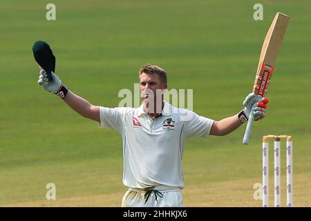
[(182, 193), (178, 187), (154, 186), (148, 189), (129, 188), (122, 198), (122, 207), (182, 206)]

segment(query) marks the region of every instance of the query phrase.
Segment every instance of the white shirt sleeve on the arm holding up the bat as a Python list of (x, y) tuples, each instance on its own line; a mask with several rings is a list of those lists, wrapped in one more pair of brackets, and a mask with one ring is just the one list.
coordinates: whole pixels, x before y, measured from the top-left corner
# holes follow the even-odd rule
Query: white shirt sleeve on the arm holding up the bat
[(187, 137), (209, 137), (214, 120), (192, 112), (192, 117), (185, 122)]

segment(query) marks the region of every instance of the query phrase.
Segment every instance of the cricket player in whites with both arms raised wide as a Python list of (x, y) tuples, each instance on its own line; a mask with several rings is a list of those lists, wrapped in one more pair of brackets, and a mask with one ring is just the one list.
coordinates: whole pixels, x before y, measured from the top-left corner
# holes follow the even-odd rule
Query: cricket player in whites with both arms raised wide
[[(223, 136), (247, 121), (265, 117), (267, 99), (247, 95), (244, 108), (232, 117), (216, 121), (193, 111), (171, 106), (163, 99), (167, 89), (166, 70), (144, 65), (139, 71), (140, 96), (138, 108), (95, 106), (68, 90), (55, 73), (47, 77), (40, 68), (38, 84), (83, 117), (93, 119), (100, 128), (111, 128), (122, 136), (123, 184), (129, 188), (122, 206), (183, 206), (181, 189), (182, 154), (189, 137)], [(160, 92), (160, 93), (159, 93)], [(255, 108), (252, 108), (256, 104)]]

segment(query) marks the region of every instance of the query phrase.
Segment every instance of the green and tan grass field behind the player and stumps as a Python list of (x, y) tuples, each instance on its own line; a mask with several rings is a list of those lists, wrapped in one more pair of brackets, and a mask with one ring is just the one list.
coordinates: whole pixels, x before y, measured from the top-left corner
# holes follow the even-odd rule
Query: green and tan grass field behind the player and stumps
[[(184, 202), (261, 206), (253, 198), (254, 184), (262, 182), (261, 137), (289, 134), (294, 205), (311, 206), (311, 3), (260, 1), (264, 20), (254, 21), (258, 1), (53, 2), (56, 21), (46, 21), (44, 1), (1, 2), (0, 206), (120, 206), (126, 191), (120, 135), (100, 130), (37, 85), (35, 41), (48, 41), (56, 73), (92, 104), (117, 106), (118, 91), (132, 89), (140, 66), (151, 63), (167, 69), (169, 88), (194, 89), (196, 113), (219, 120), (243, 108), (278, 11), (291, 21), (267, 94), (267, 116), (254, 124), (248, 146), (242, 144), (245, 126), (225, 137), (187, 141)], [(45, 198), (50, 182), (55, 201)]]

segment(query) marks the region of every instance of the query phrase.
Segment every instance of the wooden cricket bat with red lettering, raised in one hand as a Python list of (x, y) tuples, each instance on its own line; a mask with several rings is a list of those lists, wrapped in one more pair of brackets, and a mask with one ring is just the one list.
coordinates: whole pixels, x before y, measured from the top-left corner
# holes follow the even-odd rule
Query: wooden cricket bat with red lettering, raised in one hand
[[(267, 86), (270, 84), (270, 79), (276, 63), (276, 57), (279, 54), (283, 37), (286, 28), (288, 27), (288, 21), (290, 21), (290, 17), (277, 12), (269, 30), (267, 31), (265, 41), (263, 41), (263, 48), (261, 48), (261, 56), (259, 57), (255, 83), (252, 90), (252, 92), (257, 95), (258, 99), (265, 97), (265, 93), (267, 93)], [(249, 142), (253, 123), (254, 115), (251, 111), (243, 137), (243, 144), (248, 144)]]

